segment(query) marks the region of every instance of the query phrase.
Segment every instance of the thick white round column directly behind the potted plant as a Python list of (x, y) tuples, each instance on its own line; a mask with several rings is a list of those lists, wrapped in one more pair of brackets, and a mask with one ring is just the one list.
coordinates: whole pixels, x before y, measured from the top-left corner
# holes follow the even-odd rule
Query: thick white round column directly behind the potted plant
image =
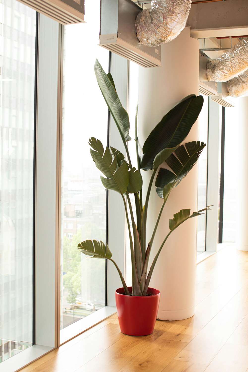
[[(190, 29), (161, 47), (160, 68), (139, 69), (139, 145), (143, 146), (162, 116), (189, 94), (199, 93), (199, 43), (190, 38)], [(198, 140), (194, 124), (186, 142)], [(147, 186), (151, 171), (142, 171)], [(143, 196), (144, 198), (144, 196)], [(148, 207), (147, 241), (162, 205), (155, 186)], [(180, 209), (197, 209), (197, 167), (195, 166), (170, 195), (165, 205), (151, 253), (152, 259), (169, 231), (169, 218)], [(150, 262), (150, 263), (151, 263)], [(196, 218), (191, 218), (167, 240), (154, 269), (150, 286), (161, 291), (158, 319), (180, 320), (194, 315), (196, 270)]]

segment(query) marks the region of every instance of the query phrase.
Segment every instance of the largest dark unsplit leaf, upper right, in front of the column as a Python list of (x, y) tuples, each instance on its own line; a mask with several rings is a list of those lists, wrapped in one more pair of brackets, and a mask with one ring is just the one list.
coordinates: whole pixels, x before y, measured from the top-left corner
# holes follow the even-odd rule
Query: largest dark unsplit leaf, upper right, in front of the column
[(183, 142), (202, 109), (203, 97), (194, 94), (185, 97), (171, 109), (149, 134), (140, 157), (141, 169), (152, 169), (158, 153)]

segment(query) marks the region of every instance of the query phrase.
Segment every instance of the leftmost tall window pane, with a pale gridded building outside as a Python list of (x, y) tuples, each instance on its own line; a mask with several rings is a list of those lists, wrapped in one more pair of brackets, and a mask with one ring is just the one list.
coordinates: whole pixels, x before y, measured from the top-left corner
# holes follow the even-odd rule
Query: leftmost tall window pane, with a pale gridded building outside
[(36, 12), (0, 0), (0, 362), (33, 342), (35, 35)]

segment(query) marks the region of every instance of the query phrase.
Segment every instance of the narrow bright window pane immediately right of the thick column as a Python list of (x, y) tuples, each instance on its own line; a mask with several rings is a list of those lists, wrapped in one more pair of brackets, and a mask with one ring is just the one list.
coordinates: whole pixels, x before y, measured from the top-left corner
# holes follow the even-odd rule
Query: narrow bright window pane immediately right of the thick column
[[(205, 142), (207, 145), (208, 137), (208, 110), (209, 97), (203, 96), (204, 103), (202, 111), (199, 115), (199, 141)], [(198, 201), (197, 209), (206, 207), (207, 202), (207, 146), (202, 151), (198, 159)], [(201, 218), (197, 218), (197, 254), (203, 253), (206, 250), (206, 214)]]

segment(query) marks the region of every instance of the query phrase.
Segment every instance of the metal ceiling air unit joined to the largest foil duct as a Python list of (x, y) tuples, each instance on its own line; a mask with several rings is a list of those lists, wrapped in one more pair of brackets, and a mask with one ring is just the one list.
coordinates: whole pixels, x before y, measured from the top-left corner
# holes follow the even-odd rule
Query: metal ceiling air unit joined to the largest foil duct
[(102, 0), (100, 45), (143, 67), (158, 67), (160, 47), (146, 47), (136, 36), (135, 20), (141, 10), (132, 0)]

